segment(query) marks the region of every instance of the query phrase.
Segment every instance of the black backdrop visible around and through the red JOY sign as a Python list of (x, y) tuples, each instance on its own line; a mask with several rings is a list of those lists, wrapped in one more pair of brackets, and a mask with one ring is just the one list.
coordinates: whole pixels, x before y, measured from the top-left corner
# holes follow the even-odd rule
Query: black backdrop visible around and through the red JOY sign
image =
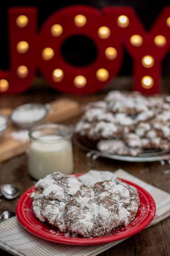
[[(6, 1), (7, 2), (7, 1)], [(114, 6), (114, 5), (126, 5), (132, 6), (137, 12), (139, 18), (141, 19), (143, 26), (146, 30), (149, 30), (151, 25), (154, 23), (156, 17), (158, 17), (164, 6), (170, 5), (170, 1), (113, 1), (113, 0), (86, 0), (86, 1), (55, 1), (55, 3), (50, 3), (48, 1), (18, 1), (16, 3), (1, 3), (0, 10), (0, 24), (1, 24), (1, 36), (0, 36), (0, 49), (1, 49), (1, 61), (0, 68), (8, 69), (9, 67), (9, 52), (8, 52), (8, 28), (7, 28), (7, 10), (12, 6), (36, 6), (38, 8), (38, 27), (40, 28), (46, 18), (51, 15), (56, 10), (68, 6), (68, 5), (76, 5), (76, 4), (86, 4), (89, 6), (96, 7), (98, 9), (103, 6)], [(83, 66), (88, 64), (90, 61), (95, 59), (95, 46), (93, 43), (86, 38), (86, 40), (82, 40), (82, 44), (86, 45), (84, 49), (88, 49), (87, 52), (81, 52), (80, 49), (81, 43), (80, 38), (75, 37), (68, 42), (66, 42), (62, 48), (62, 53), (66, 56), (67, 61), (71, 62), (76, 66)], [(73, 57), (74, 56), (74, 59)], [(163, 76), (169, 76), (170, 72), (170, 54), (168, 53), (163, 60)], [(119, 75), (131, 75), (132, 74), (132, 59), (130, 58), (127, 51), (124, 49), (124, 59), (123, 66), (119, 72)]]

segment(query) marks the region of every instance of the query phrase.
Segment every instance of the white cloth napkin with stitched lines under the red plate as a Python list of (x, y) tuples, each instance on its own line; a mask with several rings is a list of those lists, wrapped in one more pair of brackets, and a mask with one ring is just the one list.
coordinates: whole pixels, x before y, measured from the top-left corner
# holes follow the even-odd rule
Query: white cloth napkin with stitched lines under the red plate
[[(130, 180), (145, 188), (154, 198), (156, 215), (149, 226), (170, 216), (170, 194), (128, 174), (124, 170), (115, 172), (117, 177)], [(18, 256), (95, 256), (123, 240), (91, 246), (72, 246), (49, 242), (26, 231), (16, 217), (0, 223), (0, 248)]]

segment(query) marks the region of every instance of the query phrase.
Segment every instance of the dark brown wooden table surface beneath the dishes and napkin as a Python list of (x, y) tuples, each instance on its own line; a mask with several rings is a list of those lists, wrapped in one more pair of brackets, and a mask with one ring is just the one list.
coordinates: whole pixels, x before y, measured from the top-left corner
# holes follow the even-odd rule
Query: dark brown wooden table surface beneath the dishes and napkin
[[(69, 97), (77, 100), (81, 105), (89, 102), (103, 99), (106, 93), (95, 95), (63, 95), (51, 89), (32, 89), (27, 93), (17, 96), (1, 96), (0, 108), (14, 108), (20, 104), (35, 102), (47, 103), (55, 99)], [(75, 124), (77, 118), (68, 120), (65, 124)], [(86, 164), (86, 154), (76, 146), (74, 150), (74, 173), (85, 173), (91, 168)], [(115, 171), (122, 168), (130, 174), (152, 184), (160, 189), (170, 193), (170, 174), (163, 174), (163, 170), (169, 167), (168, 163), (161, 166), (160, 163), (127, 163), (109, 159), (97, 159), (93, 169)], [(0, 183), (12, 183), (17, 185), (21, 194), (35, 184), (35, 181), (29, 176), (27, 168), (27, 154), (22, 154), (12, 158), (9, 161), (0, 164)], [(4, 210), (15, 211), (18, 198), (6, 200), (1, 197), (0, 213)], [(143, 230), (117, 246), (99, 254), (100, 256), (170, 256), (170, 218)], [(10, 253), (0, 250), (0, 255), (7, 256)]]

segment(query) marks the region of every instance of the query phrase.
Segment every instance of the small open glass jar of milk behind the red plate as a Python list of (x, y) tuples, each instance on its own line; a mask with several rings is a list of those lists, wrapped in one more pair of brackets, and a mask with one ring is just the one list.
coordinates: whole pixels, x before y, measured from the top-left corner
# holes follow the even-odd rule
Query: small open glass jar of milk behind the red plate
[(44, 124), (29, 132), (29, 173), (38, 180), (47, 174), (73, 172), (72, 132), (61, 124)]

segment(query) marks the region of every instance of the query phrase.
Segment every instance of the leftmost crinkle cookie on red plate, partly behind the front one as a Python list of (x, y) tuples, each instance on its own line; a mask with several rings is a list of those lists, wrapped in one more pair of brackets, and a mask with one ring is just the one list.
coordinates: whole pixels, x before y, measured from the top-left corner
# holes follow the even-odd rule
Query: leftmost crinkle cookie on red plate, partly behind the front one
[(84, 185), (74, 176), (56, 172), (40, 179), (31, 194), (33, 211), (41, 221), (66, 231), (64, 207), (69, 199)]

